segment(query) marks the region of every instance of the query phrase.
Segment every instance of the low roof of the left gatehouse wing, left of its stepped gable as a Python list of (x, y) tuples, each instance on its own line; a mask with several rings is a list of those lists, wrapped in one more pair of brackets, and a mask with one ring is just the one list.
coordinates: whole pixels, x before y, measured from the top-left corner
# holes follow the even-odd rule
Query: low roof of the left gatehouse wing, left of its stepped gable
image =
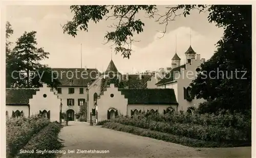
[(29, 99), (36, 94), (39, 89), (28, 88), (6, 88), (7, 105), (28, 105)]

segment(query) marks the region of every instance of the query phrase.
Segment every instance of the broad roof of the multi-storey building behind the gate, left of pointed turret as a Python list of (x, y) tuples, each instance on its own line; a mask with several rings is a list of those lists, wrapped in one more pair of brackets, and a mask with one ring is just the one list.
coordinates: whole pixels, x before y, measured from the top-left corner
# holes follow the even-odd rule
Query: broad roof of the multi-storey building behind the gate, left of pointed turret
[[(58, 79), (61, 86), (87, 86), (88, 83), (91, 84), (96, 79), (96, 75), (99, 73), (97, 69), (81, 68), (52, 68), (52, 71), (58, 72)], [(73, 82), (70, 82), (70, 79), (72, 79)]]

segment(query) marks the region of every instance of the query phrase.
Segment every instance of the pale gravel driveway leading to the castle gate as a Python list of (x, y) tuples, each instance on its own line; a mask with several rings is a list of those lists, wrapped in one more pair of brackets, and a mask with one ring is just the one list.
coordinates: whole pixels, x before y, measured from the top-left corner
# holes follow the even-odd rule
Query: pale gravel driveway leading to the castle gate
[[(65, 141), (64, 157), (251, 157), (251, 147), (191, 148), (130, 133), (89, 126), (83, 122), (69, 122), (60, 138)], [(77, 150), (109, 150), (109, 153), (77, 153)], [(68, 153), (74, 151), (75, 153)], [(105, 151), (108, 152), (108, 151)]]

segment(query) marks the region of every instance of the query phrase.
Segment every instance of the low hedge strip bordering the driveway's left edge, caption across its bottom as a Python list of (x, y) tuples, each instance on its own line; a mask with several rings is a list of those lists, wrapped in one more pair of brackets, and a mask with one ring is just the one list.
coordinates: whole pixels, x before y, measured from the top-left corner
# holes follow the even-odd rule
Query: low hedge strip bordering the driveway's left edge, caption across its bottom
[[(22, 149), (23, 151), (31, 151), (31, 153), (19, 153), (19, 157), (56, 157), (59, 149), (63, 147), (62, 140), (58, 138), (60, 129), (61, 125), (59, 123), (50, 123), (35, 134)], [(47, 150), (47, 152), (42, 153), (42, 151), (45, 150)]]

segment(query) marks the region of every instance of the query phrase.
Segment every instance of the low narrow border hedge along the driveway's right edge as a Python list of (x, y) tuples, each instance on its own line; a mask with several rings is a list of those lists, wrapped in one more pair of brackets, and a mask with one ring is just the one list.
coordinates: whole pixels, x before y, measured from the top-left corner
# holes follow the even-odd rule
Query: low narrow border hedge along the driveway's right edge
[(106, 122), (103, 124), (102, 127), (114, 129), (117, 131), (128, 132), (128, 133), (136, 134), (142, 137), (149, 137), (149, 138), (162, 140), (166, 142), (181, 144), (189, 147), (235, 147), (235, 146), (241, 145), (241, 144), (234, 144), (234, 143), (228, 144), (228, 143), (219, 143), (214, 141), (203, 141), (203, 140), (191, 139), (191, 138), (182, 137), (182, 136), (174, 136), (173, 134), (169, 134), (169, 133), (152, 131), (144, 128), (123, 125), (115, 122)]

